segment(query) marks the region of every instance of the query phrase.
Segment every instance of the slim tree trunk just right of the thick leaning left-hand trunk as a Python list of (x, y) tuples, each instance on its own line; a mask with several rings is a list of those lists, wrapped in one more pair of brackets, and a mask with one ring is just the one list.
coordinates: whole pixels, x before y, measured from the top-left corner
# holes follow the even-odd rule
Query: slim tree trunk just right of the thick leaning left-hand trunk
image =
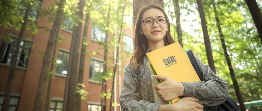
[[(58, 36), (58, 35), (57, 35)], [(58, 37), (56, 37), (58, 38)], [(53, 57), (52, 59), (54, 60), (54, 57), (56, 55), (56, 43), (55, 42), (55, 46), (54, 46), (54, 51), (53, 51)], [(54, 69), (54, 63), (51, 64), (51, 71), (53, 71)], [(47, 88), (47, 96), (46, 96), (46, 104), (45, 104), (45, 111), (49, 111), (49, 104), (50, 104), (50, 92), (51, 92), (51, 84), (52, 84), (52, 77), (53, 77), (53, 73), (49, 73), (49, 81), (48, 81), (48, 88)]]

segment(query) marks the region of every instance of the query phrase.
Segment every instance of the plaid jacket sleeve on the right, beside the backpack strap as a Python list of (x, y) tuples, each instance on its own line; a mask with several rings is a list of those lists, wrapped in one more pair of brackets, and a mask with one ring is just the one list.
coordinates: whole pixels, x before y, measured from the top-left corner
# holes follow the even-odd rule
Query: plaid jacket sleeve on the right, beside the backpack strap
[(203, 81), (182, 82), (185, 89), (184, 97), (199, 98), (198, 103), (205, 106), (222, 104), (229, 95), (228, 83), (216, 75), (208, 65), (202, 63), (197, 56), (195, 58), (203, 74)]

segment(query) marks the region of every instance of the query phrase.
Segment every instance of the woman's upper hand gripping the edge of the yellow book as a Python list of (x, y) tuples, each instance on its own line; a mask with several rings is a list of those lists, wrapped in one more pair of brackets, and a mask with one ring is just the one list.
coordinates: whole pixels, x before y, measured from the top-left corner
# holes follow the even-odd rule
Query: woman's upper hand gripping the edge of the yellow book
[(178, 83), (167, 76), (162, 75), (152, 75), (156, 79), (160, 79), (163, 82), (155, 85), (154, 89), (157, 90), (157, 94), (161, 97), (162, 101), (171, 101), (178, 96), (184, 96), (184, 85)]

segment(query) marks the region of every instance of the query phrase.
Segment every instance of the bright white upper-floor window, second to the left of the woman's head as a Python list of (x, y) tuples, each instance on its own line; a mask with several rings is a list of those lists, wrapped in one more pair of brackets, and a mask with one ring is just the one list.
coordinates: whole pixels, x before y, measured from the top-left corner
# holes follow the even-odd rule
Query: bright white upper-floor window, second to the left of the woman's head
[(94, 26), (92, 28), (92, 34), (91, 35), (92, 35), (93, 40), (100, 41), (100, 42), (105, 41), (106, 34), (102, 30), (100, 30), (99, 26)]

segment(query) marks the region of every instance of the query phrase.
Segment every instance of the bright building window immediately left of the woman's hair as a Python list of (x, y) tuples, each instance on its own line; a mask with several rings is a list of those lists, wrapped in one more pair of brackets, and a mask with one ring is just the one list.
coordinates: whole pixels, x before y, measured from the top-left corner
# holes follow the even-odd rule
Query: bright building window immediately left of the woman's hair
[(126, 35), (124, 35), (123, 37), (124, 37), (124, 39), (123, 39), (124, 50), (132, 53), (133, 50), (134, 50), (134, 39), (132, 37), (129, 37), (129, 36), (126, 36)]

